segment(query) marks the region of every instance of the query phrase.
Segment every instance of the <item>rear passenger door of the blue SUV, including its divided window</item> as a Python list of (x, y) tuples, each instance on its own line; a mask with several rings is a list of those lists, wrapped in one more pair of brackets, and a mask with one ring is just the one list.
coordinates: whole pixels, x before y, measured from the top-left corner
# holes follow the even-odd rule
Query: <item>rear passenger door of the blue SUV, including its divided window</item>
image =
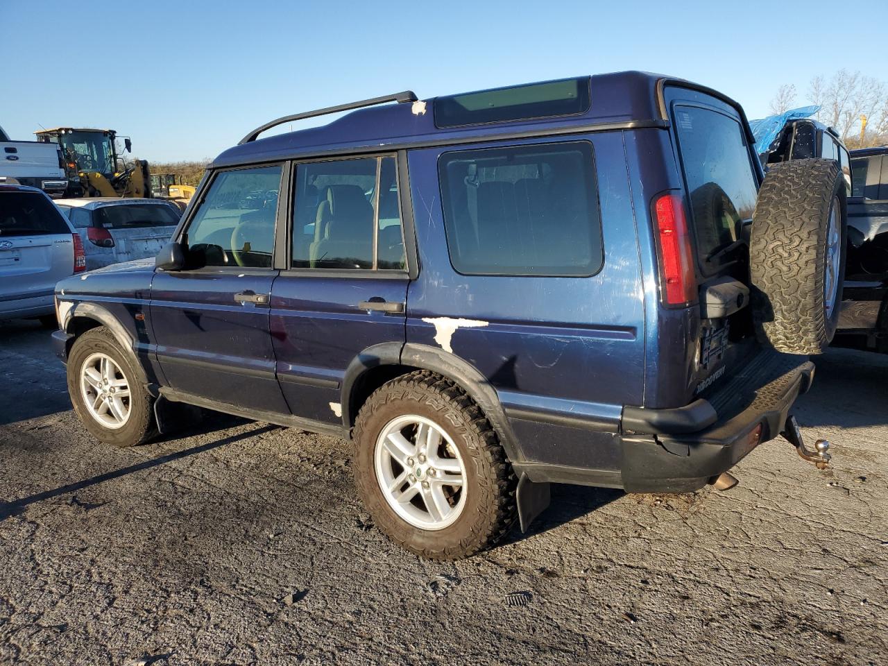
[(271, 330), (281, 390), (297, 416), (340, 424), (349, 364), (374, 345), (403, 344), (416, 270), (404, 182), (396, 155), (294, 165), (289, 268), (274, 282)]

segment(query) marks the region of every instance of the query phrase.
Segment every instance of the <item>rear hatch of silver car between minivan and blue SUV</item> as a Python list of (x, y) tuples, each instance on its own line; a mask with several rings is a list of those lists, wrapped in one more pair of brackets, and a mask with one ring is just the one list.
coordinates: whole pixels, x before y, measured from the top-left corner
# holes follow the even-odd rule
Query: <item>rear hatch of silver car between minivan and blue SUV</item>
[(114, 248), (115, 261), (154, 257), (170, 241), (180, 217), (166, 202), (102, 205), (92, 211), (89, 241)]

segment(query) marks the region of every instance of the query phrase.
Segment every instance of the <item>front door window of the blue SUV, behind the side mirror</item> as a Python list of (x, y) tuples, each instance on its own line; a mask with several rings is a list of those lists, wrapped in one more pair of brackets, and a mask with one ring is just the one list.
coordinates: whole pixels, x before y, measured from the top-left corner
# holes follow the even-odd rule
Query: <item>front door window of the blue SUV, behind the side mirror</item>
[(188, 226), (188, 250), (204, 266), (270, 268), (281, 167), (222, 171)]

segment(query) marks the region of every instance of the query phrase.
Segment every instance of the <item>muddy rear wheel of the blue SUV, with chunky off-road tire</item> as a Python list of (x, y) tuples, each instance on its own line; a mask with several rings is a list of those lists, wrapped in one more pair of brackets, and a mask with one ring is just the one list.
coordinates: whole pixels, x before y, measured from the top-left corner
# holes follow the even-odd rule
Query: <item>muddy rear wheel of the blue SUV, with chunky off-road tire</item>
[(389, 538), (429, 559), (496, 543), (516, 518), (517, 480), (480, 408), (421, 370), (370, 396), (354, 427), (354, 476)]

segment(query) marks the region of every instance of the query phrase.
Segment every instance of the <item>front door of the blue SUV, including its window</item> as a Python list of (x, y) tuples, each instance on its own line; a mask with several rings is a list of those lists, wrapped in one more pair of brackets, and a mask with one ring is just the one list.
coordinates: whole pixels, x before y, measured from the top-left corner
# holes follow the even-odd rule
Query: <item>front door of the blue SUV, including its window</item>
[(181, 239), (188, 267), (155, 273), (151, 327), (170, 388), (289, 413), (268, 328), (281, 173), (280, 164), (216, 173)]

